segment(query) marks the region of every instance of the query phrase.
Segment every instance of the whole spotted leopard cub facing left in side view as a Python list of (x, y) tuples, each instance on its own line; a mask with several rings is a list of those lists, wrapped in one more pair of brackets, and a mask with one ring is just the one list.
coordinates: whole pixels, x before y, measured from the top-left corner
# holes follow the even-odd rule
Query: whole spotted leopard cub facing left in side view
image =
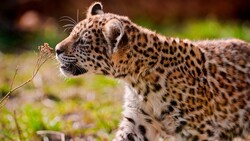
[(94, 3), (56, 52), (67, 76), (94, 73), (126, 82), (114, 141), (250, 135), (250, 45), (244, 41), (165, 37)]

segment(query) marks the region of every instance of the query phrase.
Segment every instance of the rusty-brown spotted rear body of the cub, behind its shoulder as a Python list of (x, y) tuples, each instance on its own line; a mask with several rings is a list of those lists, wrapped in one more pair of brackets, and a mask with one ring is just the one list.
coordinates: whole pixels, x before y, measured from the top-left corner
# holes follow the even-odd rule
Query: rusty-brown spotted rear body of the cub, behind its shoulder
[(210, 90), (215, 95), (214, 120), (220, 128), (235, 130), (231, 133), (232, 136), (233, 134), (248, 135), (250, 131), (250, 44), (238, 39), (225, 39), (198, 41), (196, 45), (206, 56), (207, 80)]

